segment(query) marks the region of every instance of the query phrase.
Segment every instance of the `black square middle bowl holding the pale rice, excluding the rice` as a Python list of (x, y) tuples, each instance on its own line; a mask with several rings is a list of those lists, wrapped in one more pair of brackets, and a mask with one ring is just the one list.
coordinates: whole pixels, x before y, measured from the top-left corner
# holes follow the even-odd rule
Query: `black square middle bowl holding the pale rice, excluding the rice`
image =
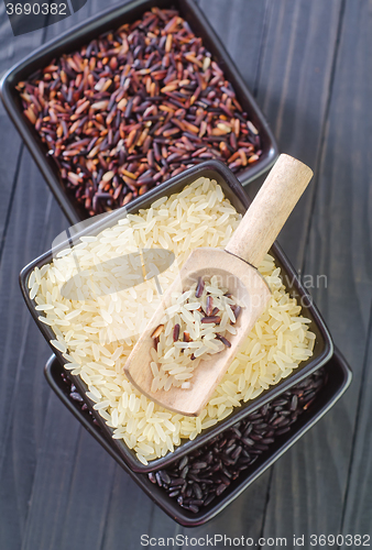
[[(156, 199), (161, 197), (180, 193), (186, 185), (195, 182), (200, 176), (205, 176), (210, 179), (216, 179), (222, 187), (225, 196), (230, 200), (230, 202), (234, 206), (238, 212), (241, 213), (245, 212), (245, 210), (250, 205), (250, 201), (244, 193), (244, 189), (242, 188), (241, 184), (238, 182), (236, 176), (232, 174), (232, 172), (219, 161), (208, 161), (206, 163), (194, 166), (188, 170), (185, 170), (179, 176), (176, 176), (169, 179), (168, 182), (165, 182), (164, 184), (155, 187), (154, 189), (150, 190), (146, 195), (144, 195), (141, 199), (139, 199), (135, 204), (134, 202), (130, 204), (128, 212), (135, 213), (139, 211), (140, 208), (149, 208), (152, 205), (152, 202), (154, 202)], [(79, 237), (86, 234), (95, 235), (100, 231), (102, 231), (103, 229), (113, 226), (123, 215), (124, 215), (123, 209), (114, 210), (111, 215), (97, 221), (96, 223), (91, 224), (84, 231), (76, 233), (76, 235), (72, 239), (73, 242), (78, 241)], [(53, 253), (52, 251), (46, 252), (39, 258), (34, 260), (29, 265), (26, 265), (20, 274), (21, 289), (25, 302), (47, 342), (50, 342), (50, 340), (55, 338), (54, 332), (52, 331), (51, 327), (44, 324), (39, 320), (37, 311), (34, 309), (35, 304), (33, 300), (30, 299), (28, 279), (35, 266), (41, 267), (42, 265), (50, 263), (53, 260), (54, 255), (57, 254), (61, 250), (70, 246), (72, 240), (66, 241), (59, 244), (58, 246), (55, 246)], [(282, 380), (277, 385), (266, 389), (252, 402), (248, 402), (245, 404), (242, 404), (241, 407), (236, 408), (236, 410), (229, 417), (227, 417), (225, 420), (220, 421), (216, 426), (204, 430), (199, 436), (197, 436), (197, 438), (194, 441), (186, 440), (182, 446), (175, 449), (173, 453), (167, 453), (165, 457), (161, 459), (151, 461), (149, 465), (143, 465), (135, 458), (134, 452), (132, 452), (124, 444), (123, 441), (112, 440), (112, 444), (116, 446), (117, 450), (121, 453), (124, 461), (130, 465), (132, 470), (138, 472), (140, 471), (149, 472), (168, 464), (175, 458), (178, 458), (187, 453), (190, 449), (194, 449), (205, 443), (206, 441), (208, 441), (208, 439), (211, 439), (215, 435), (222, 431), (228, 426), (231, 426), (232, 424), (242, 419), (244, 416), (251, 413), (252, 409), (264, 405), (265, 403), (273, 399), (275, 396), (284, 392), (288, 387), (293, 386), (300, 380), (305, 378), (316, 369), (324, 365), (332, 355), (333, 346), (327, 327), (324, 320), (321, 319), (320, 314), (318, 312), (316, 306), (313, 304), (309, 294), (303, 287), (300, 280), (297, 278), (294, 267), (291, 265), (287, 257), (284, 255), (284, 253), (282, 252), (281, 248), (277, 244), (273, 245), (271, 252), (275, 257), (276, 264), (282, 268), (282, 274), (284, 276), (284, 280), (286, 282), (287, 289), (289, 290), (293, 297), (296, 297), (297, 300), (299, 300), (299, 302), (303, 306), (305, 306), (306, 308), (305, 315), (311, 320), (309, 327), (310, 330), (316, 334), (316, 342), (313, 356), (309, 360), (302, 362), (299, 366), (294, 371), (294, 373), (291, 374), (287, 378)], [(63, 364), (66, 363), (61, 352), (56, 351), (53, 346), (52, 350)], [(74, 380), (74, 384), (77, 386), (79, 392), (81, 394), (85, 394), (85, 392), (87, 391), (87, 386), (81, 381), (81, 378), (79, 376), (72, 376), (72, 378)], [(109, 428), (105, 424), (102, 417), (96, 410), (92, 409), (92, 402), (90, 402), (90, 399), (87, 397), (85, 397), (85, 399), (90, 410), (96, 416), (98, 422), (102, 427), (102, 429), (106, 431), (108, 436), (110, 436), (112, 433), (111, 428)]]

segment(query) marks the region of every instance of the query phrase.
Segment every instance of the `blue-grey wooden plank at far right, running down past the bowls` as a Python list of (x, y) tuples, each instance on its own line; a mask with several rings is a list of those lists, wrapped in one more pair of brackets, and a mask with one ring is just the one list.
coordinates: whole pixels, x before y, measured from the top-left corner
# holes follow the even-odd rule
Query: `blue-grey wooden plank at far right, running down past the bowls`
[(344, 532), (360, 532), (359, 528), (365, 532), (371, 526), (371, 508), (363, 508), (370, 503), (371, 476), (359, 470), (370, 460), (369, 393), (360, 405), (347, 493), (359, 393), (361, 387), (363, 392), (370, 387), (369, 378), (362, 380), (372, 298), (370, 56), (369, 6), (361, 0), (347, 1), (305, 273), (327, 276), (327, 288), (321, 285), (311, 292), (335, 343), (353, 369), (354, 380), (342, 400), (275, 466), (266, 536), (338, 534), (346, 497)]

